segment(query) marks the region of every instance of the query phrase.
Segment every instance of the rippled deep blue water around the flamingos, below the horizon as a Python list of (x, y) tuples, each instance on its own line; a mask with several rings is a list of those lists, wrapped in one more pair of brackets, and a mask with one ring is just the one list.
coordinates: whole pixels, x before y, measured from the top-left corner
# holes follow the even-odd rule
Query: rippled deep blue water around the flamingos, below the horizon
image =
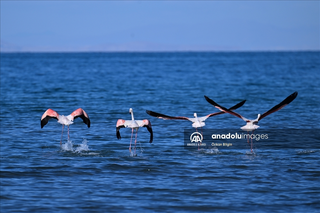
[[(319, 52), (0, 54), (0, 210), (4, 212), (320, 212), (320, 150), (184, 149), (184, 120), (218, 112), (204, 95), (255, 119), (294, 91), (297, 98), (259, 122), (266, 129), (320, 128)], [(48, 108), (91, 120), (70, 126)], [(149, 119), (129, 152), (131, 129), (118, 119)], [(239, 129), (224, 114), (204, 129)], [(318, 134), (318, 130), (315, 131)], [(320, 143), (320, 141), (319, 141)]]

